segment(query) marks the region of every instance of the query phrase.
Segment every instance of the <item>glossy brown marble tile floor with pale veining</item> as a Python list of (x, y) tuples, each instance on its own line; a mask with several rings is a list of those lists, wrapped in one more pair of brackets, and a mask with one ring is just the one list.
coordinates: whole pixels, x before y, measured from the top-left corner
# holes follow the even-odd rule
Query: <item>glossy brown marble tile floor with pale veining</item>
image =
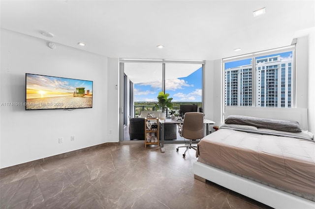
[(0, 209), (261, 209), (193, 178), (195, 151), (179, 144), (113, 144), (0, 172)]

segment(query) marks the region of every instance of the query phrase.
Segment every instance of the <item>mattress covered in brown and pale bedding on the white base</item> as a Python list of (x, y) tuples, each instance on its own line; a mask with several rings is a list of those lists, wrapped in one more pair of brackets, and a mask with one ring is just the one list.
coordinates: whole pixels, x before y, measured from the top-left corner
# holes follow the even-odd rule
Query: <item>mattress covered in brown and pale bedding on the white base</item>
[(215, 131), (198, 143), (196, 157), (199, 162), (315, 201), (314, 140), (255, 131)]

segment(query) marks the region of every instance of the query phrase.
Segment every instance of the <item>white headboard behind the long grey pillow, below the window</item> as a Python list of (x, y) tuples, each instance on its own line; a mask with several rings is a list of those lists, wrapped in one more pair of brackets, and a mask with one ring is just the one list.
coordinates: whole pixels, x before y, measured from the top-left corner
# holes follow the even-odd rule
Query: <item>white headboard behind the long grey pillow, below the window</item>
[(258, 118), (296, 121), (300, 124), (302, 130), (309, 130), (307, 108), (225, 106), (225, 117), (228, 115), (245, 115)]

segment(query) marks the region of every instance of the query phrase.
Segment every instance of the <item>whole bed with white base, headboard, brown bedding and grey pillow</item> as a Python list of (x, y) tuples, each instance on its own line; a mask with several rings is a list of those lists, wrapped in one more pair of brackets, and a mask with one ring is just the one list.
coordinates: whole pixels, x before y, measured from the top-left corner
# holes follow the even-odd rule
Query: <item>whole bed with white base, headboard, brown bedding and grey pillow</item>
[(315, 142), (305, 131), (307, 110), (256, 110), (228, 109), (220, 129), (198, 143), (196, 179), (273, 208), (314, 209)]

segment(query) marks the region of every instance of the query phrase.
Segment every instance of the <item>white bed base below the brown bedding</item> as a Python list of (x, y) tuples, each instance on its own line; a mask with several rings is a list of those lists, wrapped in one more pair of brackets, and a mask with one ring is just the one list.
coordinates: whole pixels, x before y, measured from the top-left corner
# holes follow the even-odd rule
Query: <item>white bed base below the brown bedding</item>
[(315, 209), (315, 202), (210, 165), (193, 163), (193, 173), (275, 209)]

